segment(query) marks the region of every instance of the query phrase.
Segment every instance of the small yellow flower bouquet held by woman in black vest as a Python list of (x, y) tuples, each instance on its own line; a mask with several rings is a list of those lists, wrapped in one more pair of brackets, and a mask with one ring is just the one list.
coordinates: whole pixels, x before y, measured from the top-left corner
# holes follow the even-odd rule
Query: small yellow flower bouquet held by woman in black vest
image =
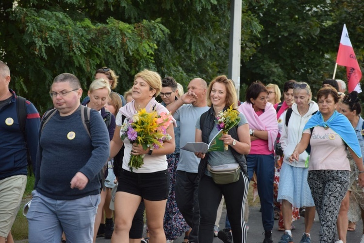
[[(228, 134), (229, 130), (236, 126), (240, 121), (239, 111), (232, 109), (232, 105), (230, 105), (228, 109), (220, 111), (217, 114), (216, 120), (217, 130), (220, 131), (222, 129), (223, 134)], [(224, 148), (225, 150), (228, 150), (229, 145), (225, 144)]]

